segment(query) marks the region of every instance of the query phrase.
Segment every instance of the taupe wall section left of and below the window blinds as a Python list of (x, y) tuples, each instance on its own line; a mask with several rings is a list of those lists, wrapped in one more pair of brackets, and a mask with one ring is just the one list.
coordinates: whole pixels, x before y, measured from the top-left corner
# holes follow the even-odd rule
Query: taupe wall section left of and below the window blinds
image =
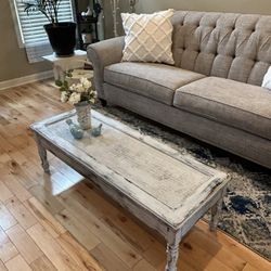
[(18, 48), (9, 1), (0, 0), (0, 81), (51, 69), (47, 63), (29, 64)]

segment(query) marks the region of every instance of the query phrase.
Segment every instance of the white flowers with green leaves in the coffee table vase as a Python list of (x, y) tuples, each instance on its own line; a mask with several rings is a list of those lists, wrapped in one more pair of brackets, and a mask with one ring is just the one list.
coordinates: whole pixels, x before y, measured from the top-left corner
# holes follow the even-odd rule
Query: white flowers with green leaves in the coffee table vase
[(96, 92), (92, 88), (92, 83), (85, 77), (80, 78), (78, 83), (68, 86), (66, 80), (56, 81), (55, 85), (61, 91), (61, 102), (76, 105), (80, 102), (95, 103)]

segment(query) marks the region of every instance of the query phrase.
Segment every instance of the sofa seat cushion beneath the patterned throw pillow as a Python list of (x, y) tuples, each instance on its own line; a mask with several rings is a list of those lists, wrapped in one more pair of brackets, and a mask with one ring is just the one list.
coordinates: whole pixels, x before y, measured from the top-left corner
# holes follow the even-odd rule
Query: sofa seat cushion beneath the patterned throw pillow
[(165, 64), (122, 62), (104, 70), (104, 81), (172, 105), (175, 91), (204, 75)]

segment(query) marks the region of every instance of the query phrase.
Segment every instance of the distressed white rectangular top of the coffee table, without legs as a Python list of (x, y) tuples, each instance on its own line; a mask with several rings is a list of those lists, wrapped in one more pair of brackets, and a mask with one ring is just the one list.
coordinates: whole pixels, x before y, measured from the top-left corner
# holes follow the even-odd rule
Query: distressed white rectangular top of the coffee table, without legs
[(34, 124), (31, 129), (173, 228), (228, 181), (227, 173), (95, 111), (92, 126), (103, 124), (102, 136), (92, 138), (86, 131), (82, 140), (75, 140), (67, 118), (76, 122), (75, 112)]

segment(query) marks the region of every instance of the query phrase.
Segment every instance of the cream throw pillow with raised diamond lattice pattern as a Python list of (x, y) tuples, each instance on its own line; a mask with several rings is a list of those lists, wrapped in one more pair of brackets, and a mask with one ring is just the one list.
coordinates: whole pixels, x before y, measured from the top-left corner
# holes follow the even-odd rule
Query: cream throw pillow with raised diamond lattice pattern
[(172, 16), (173, 10), (139, 15), (122, 13), (126, 33), (122, 61), (175, 64)]

